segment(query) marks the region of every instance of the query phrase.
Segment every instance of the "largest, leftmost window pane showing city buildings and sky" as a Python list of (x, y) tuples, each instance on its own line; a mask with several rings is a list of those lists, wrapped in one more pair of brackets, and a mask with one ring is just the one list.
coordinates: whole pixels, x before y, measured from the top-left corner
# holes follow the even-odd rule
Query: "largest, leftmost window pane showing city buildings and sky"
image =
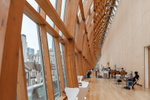
[[(22, 46), (29, 100), (47, 100), (38, 25), (25, 14), (22, 23)], [(34, 39), (33, 39), (34, 37)]]

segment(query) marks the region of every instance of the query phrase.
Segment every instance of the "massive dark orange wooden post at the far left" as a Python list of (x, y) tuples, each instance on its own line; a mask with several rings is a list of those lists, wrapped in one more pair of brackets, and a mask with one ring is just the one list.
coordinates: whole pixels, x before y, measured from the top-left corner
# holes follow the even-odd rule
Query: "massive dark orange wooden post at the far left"
[(3, 20), (1, 25), (3, 27), (3, 25), (7, 24), (6, 31), (1, 33), (5, 34), (5, 39), (0, 70), (0, 100), (16, 100), (20, 33), (24, 4), (25, 0), (0, 1), (0, 5), (3, 5), (2, 8), (7, 6), (9, 9), (7, 21)]

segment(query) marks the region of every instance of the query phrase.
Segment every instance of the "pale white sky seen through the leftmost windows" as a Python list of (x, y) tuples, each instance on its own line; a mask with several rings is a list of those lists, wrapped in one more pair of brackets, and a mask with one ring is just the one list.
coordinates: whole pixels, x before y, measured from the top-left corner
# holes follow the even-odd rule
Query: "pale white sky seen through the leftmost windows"
[[(27, 0), (28, 1), (28, 3), (36, 10), (36, 11), (38, 11), (38, 4), (36, 3), (36, 1), (35, 0)], [(52, 3), (52, 5), (54, 6), (54, 8), (56, 8), (56, 1), (57, 0), (50, 0), (50, 2)], [(27, 42), (28, 42), (28, 47), (30, 47), (30, 48), (34, 48), (34, 50), (35, 50), (35, 54), (37, 53), (37, 50), (39, 49), (39, 46), (38, 46), (38, 43), (36, 42), (36, 41), (38, 41), (38, 39), (37, 38), (34, 38), (34, 37), (37, 37), (37, 34), (33, 34), (33, 33), (35, 33), (35, 31), (36, 31), (36, 33), (37, 33), (37, 28), (38, 28), (38, 26), (36, 26), (34, 23), (31, 23), (31, 21), (30, 20), (28, 20), (29, 18), (24, 14), (23, 15), (23, 26), (22, 27), (24, 27), (24, 28), (22, 28), (22, 31), (21, 31), (21, 34), (24, 34), (24, 35), (26, 35), (26, 37), (28, 37), (27, 38)], [(50, 22), (49, 24), (51, 24), (51, 26), (53, 26), (53, 22), (50, 20), (50, 19), (48, 19), (48, 21)], [(30, 23), (30, 24), (29, 24)], [(31, 37), (32, 36), (32, 37)], [(33, 39), (34, 39), (34, 41), (33, 41)], [(50, 46), (50, 47), (52, 47), (52, 45)]]

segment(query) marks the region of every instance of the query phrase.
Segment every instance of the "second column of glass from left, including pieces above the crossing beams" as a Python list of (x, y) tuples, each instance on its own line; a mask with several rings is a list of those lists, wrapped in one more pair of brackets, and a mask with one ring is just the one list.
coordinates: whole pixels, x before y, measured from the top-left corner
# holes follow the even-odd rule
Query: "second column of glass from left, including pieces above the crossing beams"
[[(57, 9), (57, 0), (49, 0), (55, 10)], [(52, 20), (46, 16), (46, 21), (55, 28), (55, 24)], [(49, 46), (49, 54), (50, 54), (50, 62), (51, 62), (51, 71), (52, 71), (52, 79), (53, 79), (53, 87), (54, 87), (54, 95), (57, 100), (61, 96), (60, 92), (60, 78), (58, 72), (57, 58), (56, 58), (56, 50), (55, 50), (55, 41), (54, 38), (47, 33), (48, 38), (48, 46)]]

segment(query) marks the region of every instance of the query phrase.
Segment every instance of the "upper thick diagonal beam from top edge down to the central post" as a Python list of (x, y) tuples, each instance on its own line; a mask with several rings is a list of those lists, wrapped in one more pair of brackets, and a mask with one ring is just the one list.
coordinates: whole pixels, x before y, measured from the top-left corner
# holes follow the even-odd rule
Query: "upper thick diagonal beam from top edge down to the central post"
[(66, 38), (72, 38), (67, 27), (64, 25), (63, 21), (60, 19), (58, 13), (54, 9), (53, 5), (49, 0), (35, 0), (39, 6), (45, 11), (45, 13), (51, 18), (55, 25), (61, 30)]

